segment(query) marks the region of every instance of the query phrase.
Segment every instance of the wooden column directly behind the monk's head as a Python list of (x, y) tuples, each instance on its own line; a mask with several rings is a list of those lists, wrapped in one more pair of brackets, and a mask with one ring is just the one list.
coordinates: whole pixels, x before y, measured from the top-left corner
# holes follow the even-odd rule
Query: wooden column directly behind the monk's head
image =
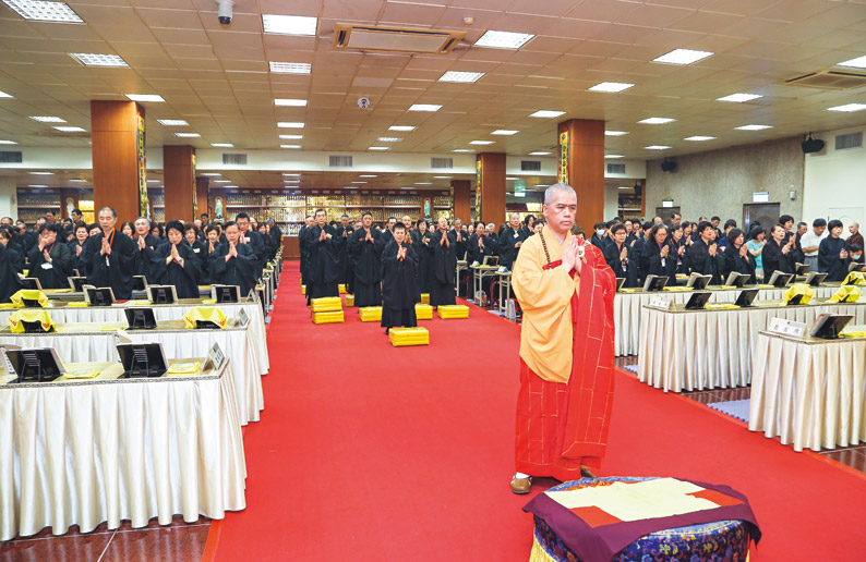
[(604, 220), (604, 121), (560, 123), (558, 181), (577, 192), (575, 223), (585, 232)]

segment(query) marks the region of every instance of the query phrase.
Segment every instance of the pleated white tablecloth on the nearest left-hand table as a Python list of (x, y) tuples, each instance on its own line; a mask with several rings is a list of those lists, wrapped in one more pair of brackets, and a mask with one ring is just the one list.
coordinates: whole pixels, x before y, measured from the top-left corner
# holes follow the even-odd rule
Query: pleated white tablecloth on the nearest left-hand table
[(230, 368), (104, 380), (106, 367), (91, 381), (0, 386), (0, 540), (244, 509)]

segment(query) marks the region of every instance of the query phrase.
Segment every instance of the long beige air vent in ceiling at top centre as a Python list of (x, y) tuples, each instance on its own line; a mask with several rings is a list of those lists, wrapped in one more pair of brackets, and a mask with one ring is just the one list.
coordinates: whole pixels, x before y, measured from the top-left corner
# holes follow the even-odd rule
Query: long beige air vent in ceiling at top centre
[(353, 51), (445, 54), (450, 52), (465, 35), (466, 32), (337, 24), (334, 34), (334, 48)]

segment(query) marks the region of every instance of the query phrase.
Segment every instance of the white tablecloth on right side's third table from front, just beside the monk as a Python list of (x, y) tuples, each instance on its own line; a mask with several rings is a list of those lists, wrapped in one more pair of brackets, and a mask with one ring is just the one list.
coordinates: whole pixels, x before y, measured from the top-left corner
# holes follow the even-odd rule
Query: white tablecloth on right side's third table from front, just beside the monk
[[(816, 298), (829, 298), (839, 290), (838, 286), (815, 288)], [(739, 295), (741, 289), (712, 289), (710, 303), (733, 303)], [(756, 301), (781, 301), (784, 289), (761, 289)], [(640, 330), (645, 326), (642, 316), (644, 306), (650, 298), (663, 295), (672, 298), (675, 304), (685, 304), (691, 291), (663, 291), (661, 293), (645, 293), (635, 290), (634, 293), (616, 293), (613, 300), (613, 319), (616, 327), (614, 350), (617, 357), (637, 355), (640, 346)]]

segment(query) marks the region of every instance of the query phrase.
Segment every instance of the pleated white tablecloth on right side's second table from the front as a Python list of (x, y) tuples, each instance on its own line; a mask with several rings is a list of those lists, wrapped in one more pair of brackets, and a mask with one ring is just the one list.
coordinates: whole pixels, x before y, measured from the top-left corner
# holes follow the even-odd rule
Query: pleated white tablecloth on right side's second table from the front
[(660, 310), (646, 307), (638, 377), (665, 391), (745, 387), (751, 382), (758, 332), (774, 317), (811, 325), (821, 313), (866, 321), (866, 304), (760, 305), (736, 309)]

